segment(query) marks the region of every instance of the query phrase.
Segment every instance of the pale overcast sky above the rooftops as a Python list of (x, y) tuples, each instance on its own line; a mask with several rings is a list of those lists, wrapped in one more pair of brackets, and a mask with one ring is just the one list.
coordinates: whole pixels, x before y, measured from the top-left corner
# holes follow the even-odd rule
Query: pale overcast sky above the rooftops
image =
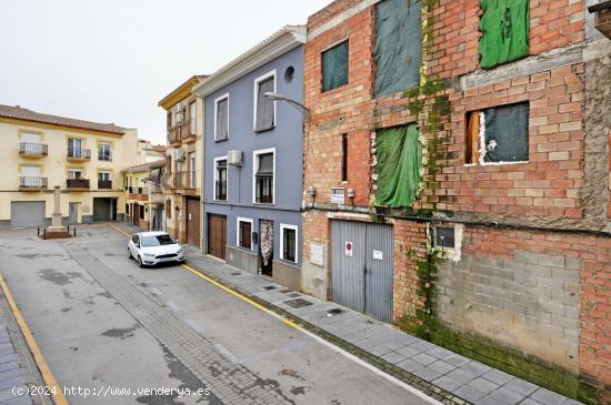
[(330, 0), (4, 0), (0, 104), (138, 128), (166, 143), (157, 105)]

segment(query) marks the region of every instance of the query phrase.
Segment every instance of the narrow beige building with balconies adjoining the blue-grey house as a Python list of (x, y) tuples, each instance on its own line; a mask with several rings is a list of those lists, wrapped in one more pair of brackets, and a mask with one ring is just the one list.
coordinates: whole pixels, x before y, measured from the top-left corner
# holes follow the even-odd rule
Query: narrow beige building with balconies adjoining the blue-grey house
[(166, 110), (168, 150), (162, 188), (166, 230), (201, 249), (203, 105), (192, 88), (206, 75), (193, 75), (159, 102)]

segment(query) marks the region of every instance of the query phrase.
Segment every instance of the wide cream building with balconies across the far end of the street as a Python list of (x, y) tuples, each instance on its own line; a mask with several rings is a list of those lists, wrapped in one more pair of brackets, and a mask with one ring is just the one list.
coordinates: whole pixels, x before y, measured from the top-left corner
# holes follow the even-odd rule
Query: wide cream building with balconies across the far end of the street
[(0, 229), (49, 224), (56, 186), (64, 223), (123, 220), (136, 130), (0, 105)]

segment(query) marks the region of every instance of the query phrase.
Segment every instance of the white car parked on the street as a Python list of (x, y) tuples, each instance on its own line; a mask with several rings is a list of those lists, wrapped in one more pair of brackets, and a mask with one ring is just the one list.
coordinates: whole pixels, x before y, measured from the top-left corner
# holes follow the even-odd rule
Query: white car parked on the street
[(184, 262), (184, 249), (166, 232), (140, 232), (128, 243), (128, 256), (140, 267), (168, 262)]

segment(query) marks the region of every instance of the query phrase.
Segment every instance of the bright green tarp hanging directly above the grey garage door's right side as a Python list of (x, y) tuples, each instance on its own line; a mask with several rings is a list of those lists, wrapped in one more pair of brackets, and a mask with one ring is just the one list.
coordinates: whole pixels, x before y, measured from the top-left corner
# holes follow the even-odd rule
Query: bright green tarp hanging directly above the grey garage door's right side
[(378, 131), (375, 156), (378, 160), (378, 205), (410, 206), (420, 184), (422, 146), (415, 124)]

